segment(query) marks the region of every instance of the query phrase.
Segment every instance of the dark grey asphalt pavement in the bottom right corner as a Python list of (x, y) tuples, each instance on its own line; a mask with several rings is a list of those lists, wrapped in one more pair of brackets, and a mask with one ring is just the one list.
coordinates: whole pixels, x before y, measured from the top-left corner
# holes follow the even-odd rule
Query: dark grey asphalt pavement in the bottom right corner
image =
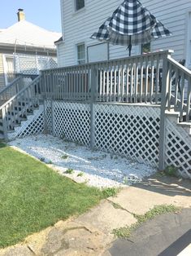
[[(191, 209), (184, 209), (180, 214), (158, 216), (138, 227), (127, 240), (115, 241), (109, 252), (112, 256), (169, 256), (177, 255), (181, 251), (186, 252), (185, 248), (189, 251), (190, 219)], [(158, 226), (158, 232), (156, 232), (156, 226)]]

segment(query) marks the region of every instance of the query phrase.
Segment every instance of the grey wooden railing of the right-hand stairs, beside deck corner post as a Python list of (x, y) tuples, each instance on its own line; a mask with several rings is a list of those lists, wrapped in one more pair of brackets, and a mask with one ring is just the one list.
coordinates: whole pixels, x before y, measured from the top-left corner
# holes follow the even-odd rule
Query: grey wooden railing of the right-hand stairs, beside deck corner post
[(191, 121), (191, 71), (171, 56), (167, 57), (167, 62), (167, 109), (180, 113), (179, 121)]

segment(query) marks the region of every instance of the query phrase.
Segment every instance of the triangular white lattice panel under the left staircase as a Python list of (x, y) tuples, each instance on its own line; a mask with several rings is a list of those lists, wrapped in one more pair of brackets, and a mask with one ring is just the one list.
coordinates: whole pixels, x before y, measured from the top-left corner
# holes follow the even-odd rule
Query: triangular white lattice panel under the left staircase
[(15, 128), (15, 132), (8, 135), (9, 139), (41, 134), (44, 131), (44, 108), (34, 110), (33, 115), (28, 116), (27, 121), (22, 121), (21, 126)]

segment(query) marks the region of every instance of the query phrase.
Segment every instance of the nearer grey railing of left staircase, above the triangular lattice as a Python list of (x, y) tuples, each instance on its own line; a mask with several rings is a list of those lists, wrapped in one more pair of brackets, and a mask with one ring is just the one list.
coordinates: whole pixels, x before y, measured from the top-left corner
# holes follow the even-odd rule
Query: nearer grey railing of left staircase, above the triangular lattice
[(33, 111), (40, 104), (41, 85), (42, 80), (39, 76), (0, 107), (5, 139), (7, 139), (7, 131), (14, 129), (15, 124), (20, 123), (21, 118), (26, 117), (28, 111)]

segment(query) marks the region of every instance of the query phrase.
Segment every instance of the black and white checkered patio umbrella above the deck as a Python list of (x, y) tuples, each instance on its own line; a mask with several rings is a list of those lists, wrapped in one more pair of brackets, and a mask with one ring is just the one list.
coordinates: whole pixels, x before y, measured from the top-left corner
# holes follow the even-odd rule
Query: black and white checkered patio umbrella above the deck
[(91, 38), (128, 46), (130, 56), (132, 45), (145, 44), (170, 35), (171, 32), (141, 2), (125, 0)]

